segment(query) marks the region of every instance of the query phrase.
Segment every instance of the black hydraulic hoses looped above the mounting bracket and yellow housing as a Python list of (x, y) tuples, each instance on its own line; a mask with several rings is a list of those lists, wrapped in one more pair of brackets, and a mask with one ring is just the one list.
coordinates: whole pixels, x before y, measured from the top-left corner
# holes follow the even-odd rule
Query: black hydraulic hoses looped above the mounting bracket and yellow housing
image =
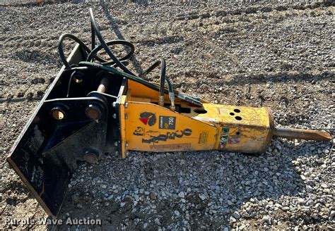
[[(124, 63), (122, 63), (122, 61), (127, 60), (128, 58), (130, 58), (134, 54), (134, 51), (135, 51), (134, 44), (131, 44), (131, 42), (127, 42), (127, 41), (124, 41), (124, 40), (112, 40), (112, 41), (109, 41), (109, 42), (105, 42), (105, 39), (102, 38), (99, 27), (98, 27), (97, 23), (95, 22), (95, 18), (94, 18), (94, 15), (93, 15), (92, 8), (90, 8), (90, 25), (91, 25), (91, 49), (89, 49), (88, 46), (86, 46), (86, 44), (84, 44), (81, 39), (78, 39), (78, 37), (76, 37), (74, 35), (66, 33), (66, 34), (63, 34), (59, 37), (59, 44), (58, 44), (59, 57), (61, 58), (61, 61), (64, 63), (65, 68), (66, 69), (73, 69), (74, 68), (73, 66), (71, 66), (69, 64), (69, 62), (66, 60), (66, 57), (64, 55), (63, 42), (64, 42), (64, 39), (68, 38), (68, 39), (72, 39), (75, 42), (77, 42), (83, 48), (83, 50), (86, 51), (86, 53), (87, 53), (86, 61), (79, 63), (79, 65), (89, 66), (89, 67), (93, 67), (93, 68), (100, 68), (102, 70), (107, 70), (111, 73), (122, 75), (123, 77), (126, 77), (130, 80), (140, 82), (141, 84), (145, 85), (146, 87), (150, 87), (151, 89), (158, 90), (159, 91), (158, 102), (159, 102), (160, 106), (164, 105), (164, 94), (168, 93), (170, 101), (171, 101), (170, 109), (172, 111), (175, 111), (175, 92), (173, 90), (173, 86), (172, 86), (170, 80), (168, 80), (165, 76), (166, 63), (165, 63), (164, 58), (160, 58), (160, 60), (155, 61), (146, 70), (144, 70), (143, 73), (141, 73), (139, 76), (136, 76), (133, 72), (131, 72), (131, 70), (129, 70), (124, 65)], [(98, 37), (98, 40), (100, 42), (100, 45), (98, 45), (98, 46), (95, 46), (95, 37)], [(114, 54), (112, 53), (112, 51), (108, 47), (110, 45), (118, 45), (118, 44), (129, 47), (128, 54), (125, 55), (122, 58), (117, 58), (116, 56), (114, 56)], [(98, 56), (98, 51), (100, 51), (102, 49), (104, 49), (106, 54), (108, 56), (110, 56), (110, 58), (112, 59), (111, 61), (107, 61), (104, 58), (101, 58), (100, 56)], [(93, 63), (94, 59), (96, 61), (99, 61), (100, 64), (99, 63)], [(123, 71), (121, 72), (121, 71), (115, 69), (114, 67), (112, 67), (110, 65), (114, 65), (115, 67), (119, 67)], [(158, 65), (160, 65), (160, 85), (159, 85), (159, 87), (157, 85), (151, 83), (151, 82), (148, 82), (148, 81), (142, 79), (142, 77), (148, 75), (148, 73), (150, 73), (152, 70), (157, 68)], [(168, 91), (165, 90), (165, 82), (167, 83)], [(69, 89), (68, 89), (68, 94), (69, 94)], [(177, 97), (179, 97), (181, 99), (184, 99), (186, 101), (189, 101), (192, 104), (201, 105), (201, 102), (199, 101), (199, 99), (196, 99), (192, 96), (187, 96), (185, 94), (178, 93)]]

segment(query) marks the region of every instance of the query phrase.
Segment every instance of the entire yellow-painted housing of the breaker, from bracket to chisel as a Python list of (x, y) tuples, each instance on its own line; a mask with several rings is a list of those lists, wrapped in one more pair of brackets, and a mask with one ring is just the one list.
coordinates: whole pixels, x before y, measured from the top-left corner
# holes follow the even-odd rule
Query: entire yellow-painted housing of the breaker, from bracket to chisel
[[(158, 92), (136, 82), (128, 83), (127, 97), (122, 99), (120, 108), (120, 114), (127, 115), (126, 118), (121, 116), (122, 157), (127, 149), (222, 149), (257, 153), (265, 151), (271, 140), (274, 122), (268, 108), (208, 104), (206, 101), (202, 101), (201, 108), (178, 99), (176, 104), (188, 111), (177, 113), (158, 106)], [(165, 96), (165, 104), (169, 103)], [(141, 113), (145, 115), (142, 119)]]

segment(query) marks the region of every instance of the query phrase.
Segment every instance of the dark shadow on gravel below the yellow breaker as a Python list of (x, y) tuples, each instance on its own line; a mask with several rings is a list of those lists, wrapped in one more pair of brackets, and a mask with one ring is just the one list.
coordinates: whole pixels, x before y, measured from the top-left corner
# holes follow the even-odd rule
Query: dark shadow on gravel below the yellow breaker
[[(83, 182), (69, 189), (59, 218), (100, 218), (102, 227), (85, 227), (98, 230), (120, 229), (122, 225), (127, 227), (126, 230), (142, 230), (145, 223), (148, 230), (157, 230), (158, 226), (169, 229), (170, 224), (178, 224), (180, 230), (184, 220), (188, 221), (189, 226), (186, 227), (191, 230), (218, 230), (229, 227), (231, 216), (237, 211), (237, 217), (245, 220), (256, 220), (258, 217), (259, 220), (259, 216), (266, 214), (266, 206), (264, 211), (252, 206), (241, 211), (241, 207), (248, 201), (253, 201), (254, 206), (266, 199), (276, 203), (283, 196), (306, 199), (307, 193), (313, 192), (312, 187), (307, 185), (315, 182), (304, 182), (300, 169), (292, 161), (309, 156), (317, 160), (318, 155), (323, 155), (317, 154), (317, 150), (324, 149), (326, 145), (321, 142), (295, 145), (293, 142), (282, 144), (275, 141), (268, 154), (259, 156), (221, 151), (175, 154), (131, 152), (124, 160), (107, 158), (107, 161), (100, 161), (93, 167), (84, 164), (81, 170), (90, 168), (92, 171), (80, 173), (85, 176), (76, 176), (78, 182)], [(310, 151), (312, 146), (316, 149)], [(315, 161), (312, 168), (321, 164)], [(102, 190), (96, 179), (110, 190)], [(114, 185), (119, 188), (116, 194), (112, 192)], [(134, 192), (139, 189), (155, 194), (139, 192), (142, 200), (134, 200)], [(180, 192), (184, 192), (184, 201), (178, 195)], [(114, 197), (107, 199), (110, 194)], [(115, 200), (117, 196), (121, 196), (119, 201)], [(138, 201), (135, 206), (134, 201)], [(280, 211), (285, 214), (285, 206), (290, 205), (282, 206)], [(288, 214), (281, 216), (290, 219)], [(61, 230), (75, 230), (76, 227), (57, 226)], [(49, 230), (52, 228), (49, 226)]]

